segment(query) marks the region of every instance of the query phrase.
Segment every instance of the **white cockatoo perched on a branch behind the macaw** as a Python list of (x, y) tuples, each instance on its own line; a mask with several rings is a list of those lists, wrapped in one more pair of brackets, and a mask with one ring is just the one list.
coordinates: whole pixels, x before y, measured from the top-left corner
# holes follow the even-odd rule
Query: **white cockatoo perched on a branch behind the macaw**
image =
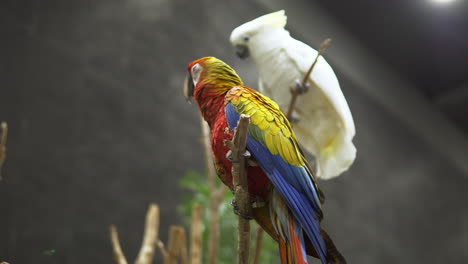
[(353, 117), (330, 65), (320, 57), (302, 80), (317, 51), (289, 35), (286, 16), (278, 11), (247, 22), (231, 33), (231, 44), (241, 58), (252, 57), (259, 74), (259, 90), (287, 111), (290, 87), (303, 92), (297, 99), (293, 129), (306, 151), (316, 159), (317, 176), (330, 179), (346, 171), (356, 157)]

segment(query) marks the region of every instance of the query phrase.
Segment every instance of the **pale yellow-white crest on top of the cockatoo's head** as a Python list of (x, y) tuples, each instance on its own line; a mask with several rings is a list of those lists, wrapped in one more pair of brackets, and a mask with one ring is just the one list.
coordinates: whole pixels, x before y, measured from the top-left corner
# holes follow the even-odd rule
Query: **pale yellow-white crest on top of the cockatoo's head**
[(255, 33), (265, 29), (284, 28), (286, 21), (287, 17), (284, 10), (263, 15), (235, 28), (231, 33), (231, 42), (237, 43), (240, 40), (244, 40), (245, 36), (255, 35)]

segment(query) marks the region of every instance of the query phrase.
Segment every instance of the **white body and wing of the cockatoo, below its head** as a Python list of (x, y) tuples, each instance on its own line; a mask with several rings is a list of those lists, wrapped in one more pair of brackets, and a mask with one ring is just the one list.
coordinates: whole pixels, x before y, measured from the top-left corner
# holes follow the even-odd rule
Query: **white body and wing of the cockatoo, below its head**
[[(317, 51), (289, 36), (283, 41), (284, 48), (253, 57), (262, 92), (285, 112), (291, 100), (289, 88), (296, 79), (304, 78)], [(319, 58), (309, 84), (309, 90), (298, 97), (295, 114), (299, 122), (293, 129), (300, 144), (315, 156), (318, 176), (329, 179), (347, 170), (356, 157), (354, 122), (336, 75), (324, 58)]]

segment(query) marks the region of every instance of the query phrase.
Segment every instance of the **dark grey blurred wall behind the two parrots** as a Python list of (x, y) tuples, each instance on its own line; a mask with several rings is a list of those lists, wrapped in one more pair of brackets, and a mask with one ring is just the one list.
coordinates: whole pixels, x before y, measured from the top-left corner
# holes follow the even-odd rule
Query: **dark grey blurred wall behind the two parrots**
[[(256, 88), (252, 62), (235, 57), (228, 37), (237, 25), (285, 8), (294, 36), (315, 47), (334, 39), (327, 59), (356, 122), (355, 164), (321, 183), (325, 225), (348, 262), (466, 263), (468, 143), (460, 128), (467, 118), (459, 114), (466, 113), (466, 90), (428, 91), (427, 80), (404, 70), (424, 71), (424, 61), (389, 63), (409, 53), (385, 52), (392, 47), (385, 36), (398, 27), (372, 19), (395, 12), (386, 19), (411, 21), (413, 14), (360, 2), (350, 9), (276, 0), (1, 1), (0, 120), (10, 134), (0, 261), (112, 263), (111, 223), (131, 261), (153, 201), (161, 205), (165, 240), (167, 227), (181, 223), (178, 180), (204, 169), (198, 109), (181, 91), (186, 64), (217, 56)], [(354, 19), (346, 8), (358, 12)], [(359, 19), (368, 23), (350, 22)], [(356, 32), (363, 25), (367, 35)], [(369, 42), (377, 34), (380, 42)], [(466, 55), (466, 46), (455, 48)], [(438, 60), (427, 59), (442, 65)], [(466, 59), (456, 61), (466, 73)], [(457, 76), (462, 81), (451, 84), (463, 86), (466, 75)], [(455, 78), (420, 78), (436, 77)], [(56, 253), (44, 254), (49, 249)]]

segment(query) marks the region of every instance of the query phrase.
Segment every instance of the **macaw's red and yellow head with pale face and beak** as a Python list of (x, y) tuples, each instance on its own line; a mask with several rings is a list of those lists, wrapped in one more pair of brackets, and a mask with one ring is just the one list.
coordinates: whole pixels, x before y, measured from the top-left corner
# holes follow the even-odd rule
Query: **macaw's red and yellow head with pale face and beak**
[(202, 102), (211, 101), (214, 97), (224, 97), (232, 87), (242, 85), (237, 73), (222, 60), (215, 57), (203, 57), (190, 62), (185, 79), (185, 97), (194, 97)]

